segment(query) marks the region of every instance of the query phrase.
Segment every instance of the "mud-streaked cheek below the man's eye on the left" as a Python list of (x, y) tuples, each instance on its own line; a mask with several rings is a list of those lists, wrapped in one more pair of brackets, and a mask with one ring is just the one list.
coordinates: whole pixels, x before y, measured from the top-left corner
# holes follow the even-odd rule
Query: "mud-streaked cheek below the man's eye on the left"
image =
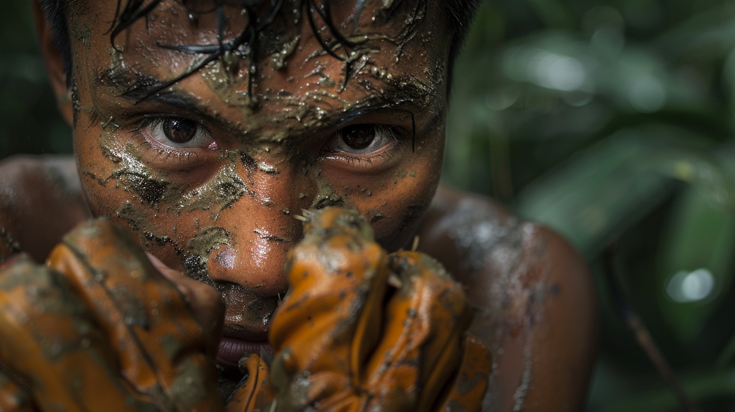
[[(140, 246), (168, 266), (182, 269), (182, 256), (193, 255), (191, 240), (211, 226), (215, 209), (193, 207), (197, 200), (205, 202), (199, 198), (185, 202), (188, 199), (185, 188), (189, 185), (207, 188), (202, 182), (212, 180), (209, 177), (212, 173), (191, 173), (193, 177), (187, 182), (173, 179), (146, 166), (140, 160), (137, 146), (124, 133), (112, 129), (75, 130), (74, 150), (87, 203), (93, 216), (107, 216), (122, 224), (135, 233)], [(202, 197), (206, 194), (201, 191)], [(207, 205), (211, 203), (207, 201)], [(209, 230), (207, 235), (212, 239), (200, 242), (197, 255), (226, 244), (226, 236), (218, 237), (218, 234)]]

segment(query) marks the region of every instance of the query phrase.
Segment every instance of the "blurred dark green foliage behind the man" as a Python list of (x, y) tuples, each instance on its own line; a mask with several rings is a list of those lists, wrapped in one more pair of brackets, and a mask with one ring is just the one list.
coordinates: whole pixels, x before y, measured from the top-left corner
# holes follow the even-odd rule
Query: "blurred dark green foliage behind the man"
[[(27, 0), (0, 14), (0, 158), (71, 153)], [(587, 410), (678, 411), (601, 252), (704, 411), (735, 412), (735, 1), (484, 1), (454, 69), (445, 182), (553, 227), (602, 306)], [(1, 177), (0, 177), (1, 178)]]

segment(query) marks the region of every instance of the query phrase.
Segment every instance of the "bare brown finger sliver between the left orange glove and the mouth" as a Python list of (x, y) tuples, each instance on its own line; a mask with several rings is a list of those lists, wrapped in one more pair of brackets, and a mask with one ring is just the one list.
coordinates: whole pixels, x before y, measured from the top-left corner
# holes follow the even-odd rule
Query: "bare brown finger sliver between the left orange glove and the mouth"
[(204, 330), (204, 338), (207, 340), (207, 353), (216, 356), (222, 328), (224, 325), (225, 305), (222, 295), (217, 289), (206, 283), (198, 282), (166, 266), (158, 257), (146, 252), (148, 260), (153, 267), (166, 279), (171, 281), (179, 291), (186, 296), (192, 308), (194, 319)]

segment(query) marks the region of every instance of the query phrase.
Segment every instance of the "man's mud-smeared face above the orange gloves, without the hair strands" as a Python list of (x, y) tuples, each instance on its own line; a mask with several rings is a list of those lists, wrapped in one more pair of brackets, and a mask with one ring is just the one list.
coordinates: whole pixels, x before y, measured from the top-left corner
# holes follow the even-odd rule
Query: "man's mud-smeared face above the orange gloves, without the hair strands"
[(87, 0), (69, 23), (74, 144), (90, 207), (223, 292), (229, 365), (266, 340), (287, 289), (286, 252), (301, 238), (295, 216), (354, 207), (398, 249), (431, 201), (444, 144), (450, 39), (437, 1), (332, 1), (349, 46), (316, 6), (285, 1), (265, 26), (263, 3), (254, 35), (248, 13), (225, 7), (225, 43), (250, 40), (151, 96), (210, 55), (165, 46), (218, 44), (210, 1), (164, 0), (115, 48), (116, 0)]

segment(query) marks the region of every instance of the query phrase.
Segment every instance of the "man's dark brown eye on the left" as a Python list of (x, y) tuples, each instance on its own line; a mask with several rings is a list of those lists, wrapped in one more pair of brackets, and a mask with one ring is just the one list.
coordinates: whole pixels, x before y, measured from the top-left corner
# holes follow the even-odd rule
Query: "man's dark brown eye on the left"
[(217, 149), (212, 133), (198, 121), (181, 117), (147, 118), (140, 125), (149, 138), (169, 149)]

